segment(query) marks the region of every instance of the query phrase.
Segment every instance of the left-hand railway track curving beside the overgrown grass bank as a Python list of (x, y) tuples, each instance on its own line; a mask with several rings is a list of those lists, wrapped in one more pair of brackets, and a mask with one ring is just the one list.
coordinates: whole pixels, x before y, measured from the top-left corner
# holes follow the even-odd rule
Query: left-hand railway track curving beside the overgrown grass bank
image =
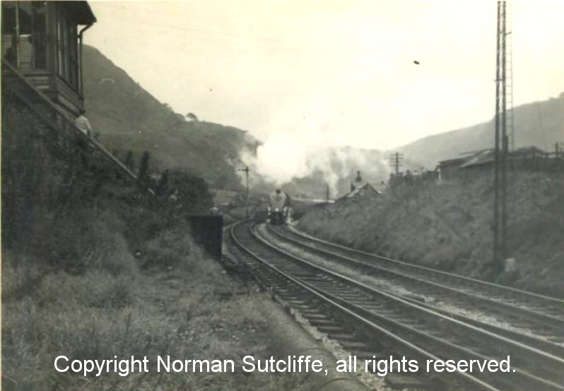
[[(264, 230), (264, 227), (259, 227)], [(437, 359), (502, 359), (511, 373), (392, 373), (394, 387), (433, 390), (564, 390), (564, 358), (435, 312), (274, 247), (254, 223), (230, 231), (237, 257), (257, 280), (298, 310), (319, 331), (360, 359), (409, 356)], [(406, 380), (406, 378), (408, 380)]]

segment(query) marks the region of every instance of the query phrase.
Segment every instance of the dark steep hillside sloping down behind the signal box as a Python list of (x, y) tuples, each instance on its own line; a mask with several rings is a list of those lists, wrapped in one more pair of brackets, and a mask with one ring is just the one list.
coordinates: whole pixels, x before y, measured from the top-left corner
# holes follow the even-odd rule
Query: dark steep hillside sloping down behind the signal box
[[(241, 189), (236, 169), (240, 151), (254, 151), (258, 141), (235, 127), (192, 120), (188, 122), (160, 103), (98, 49), (85, 45), (84, 89), (88, 118), (110, 150), (124, 158), (151, 152), (157, 168), (184, 168), (212, 187)], [(196, 113), (197, 115), (197, 113)]]

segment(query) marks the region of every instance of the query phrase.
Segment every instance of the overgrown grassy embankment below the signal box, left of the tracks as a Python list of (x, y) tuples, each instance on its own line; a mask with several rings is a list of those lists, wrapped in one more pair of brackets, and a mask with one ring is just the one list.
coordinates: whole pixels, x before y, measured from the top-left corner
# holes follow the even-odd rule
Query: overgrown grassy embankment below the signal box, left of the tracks
[(266, 356), (262, 298), (192, 240), (182, 215), (208, 206), (206, 189), (180, 194), (179, 207), (143, 197), (103, 167), (67, 175), (30, 117), (11, 107), (2, 117), (3, 390), (297, 387), (295, 378), (255, 373), (57, 373), (59, 355)]

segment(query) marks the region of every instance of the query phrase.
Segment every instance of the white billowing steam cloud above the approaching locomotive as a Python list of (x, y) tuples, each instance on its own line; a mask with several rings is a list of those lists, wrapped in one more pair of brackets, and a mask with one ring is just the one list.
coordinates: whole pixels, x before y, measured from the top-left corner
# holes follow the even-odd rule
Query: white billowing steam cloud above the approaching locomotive
[(317, 197), (329, 186), (331, 196), (336, 197), (348, 191), (357, 170), (372, 183), (385, 180), (389, 170), (382, 152), (343, 146), (346, 129), (341, 115), (339, 105), (320, 98), (281, 108), (265, 129), (284, 126), (265, 132), (256, 153), (240, 153), (242, 162), (259, 176), (254, 177), (255, 184), (268, 182), (271, 187), (283, 186), (290, 194), (315, 193)]

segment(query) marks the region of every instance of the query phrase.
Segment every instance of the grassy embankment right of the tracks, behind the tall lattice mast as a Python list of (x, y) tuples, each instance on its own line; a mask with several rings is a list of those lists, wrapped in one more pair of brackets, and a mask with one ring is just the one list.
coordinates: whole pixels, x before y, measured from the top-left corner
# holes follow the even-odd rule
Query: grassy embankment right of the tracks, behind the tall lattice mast
[[(377, 254), (489, 280), (493, 181), (401, 185), (376, 198), (320, 205), (298, 228)], [(564, 180), (519, 173), (509, 194), (509, 255), (520, 288), (564, 294)]]

